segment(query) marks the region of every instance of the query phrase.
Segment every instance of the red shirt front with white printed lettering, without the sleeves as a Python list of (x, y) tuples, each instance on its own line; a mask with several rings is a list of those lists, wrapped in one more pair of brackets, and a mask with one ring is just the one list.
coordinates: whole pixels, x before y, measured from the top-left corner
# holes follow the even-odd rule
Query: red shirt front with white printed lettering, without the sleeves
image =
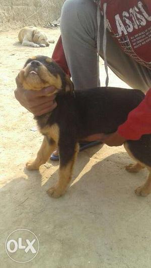
[(151, 69), (151, 1), (102, 0), (107, 3), (107, 29), (122, 50)]

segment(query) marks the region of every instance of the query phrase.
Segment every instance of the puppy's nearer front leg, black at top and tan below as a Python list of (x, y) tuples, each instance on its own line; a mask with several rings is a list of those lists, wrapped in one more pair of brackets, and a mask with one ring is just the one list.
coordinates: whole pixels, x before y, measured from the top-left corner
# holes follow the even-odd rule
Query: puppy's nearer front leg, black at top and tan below
[(59, 181), (56, 185), (47, 190), (50, 196), (59, 197), (65, 192), (71, 179), (74, 161), (77, 158), (78, 152), (78, 143), (75, 145), (67, 145), (66, 148), (63, 144), (59, 146)]

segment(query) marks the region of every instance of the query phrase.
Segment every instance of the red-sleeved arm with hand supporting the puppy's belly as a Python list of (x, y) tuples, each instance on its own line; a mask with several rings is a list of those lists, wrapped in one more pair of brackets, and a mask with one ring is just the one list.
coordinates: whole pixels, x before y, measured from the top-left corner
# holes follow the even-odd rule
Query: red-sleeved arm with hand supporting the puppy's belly
[(142, 135), (151, 133), (151, 89), (141, 103), (133, 109), (127, 120), (117, 131), (111, 134), (95, 134), (85, 138), (86, 141), (100, 140), (108, 146), (120, 146), (126, 140), (139, 140)]

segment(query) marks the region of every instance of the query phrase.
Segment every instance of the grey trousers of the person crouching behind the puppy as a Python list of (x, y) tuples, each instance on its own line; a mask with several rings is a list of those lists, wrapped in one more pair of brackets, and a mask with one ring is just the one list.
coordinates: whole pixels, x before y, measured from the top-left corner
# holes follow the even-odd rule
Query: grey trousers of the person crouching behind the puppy
[[(75, 89), (98, 85), (97, 6), (92, 0), (66, 0), (61, 13), (62, 44)], [(100, 56), (103, 58), (104, 23), (101, 16)], [(107, 61), (110, 69), (127, 85), (146, 92), (151, 70), (126, 55), (107, 32)], [(100, 74), (101, 78), (101, 74)]]

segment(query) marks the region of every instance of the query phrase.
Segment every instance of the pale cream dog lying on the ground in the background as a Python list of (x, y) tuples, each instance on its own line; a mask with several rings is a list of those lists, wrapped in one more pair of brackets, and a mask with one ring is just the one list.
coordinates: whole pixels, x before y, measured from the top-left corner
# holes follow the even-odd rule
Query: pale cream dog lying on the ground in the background
[(27, 26), (20, 30), (18, 34), (19, 41), (23, 46), (45, 47), (54, 40), (48, 41), (47, 36), (37, 27)]

